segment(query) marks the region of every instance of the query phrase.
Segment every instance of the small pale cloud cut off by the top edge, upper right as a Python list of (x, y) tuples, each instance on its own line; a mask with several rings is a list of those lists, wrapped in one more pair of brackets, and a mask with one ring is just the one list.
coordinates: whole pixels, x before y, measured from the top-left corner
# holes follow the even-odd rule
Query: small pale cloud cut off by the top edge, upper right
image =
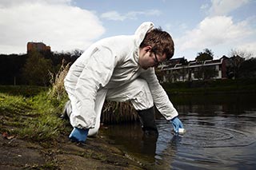
[(210, 15), (225, 15), (250, 2), (250, 0), (211, 0)]

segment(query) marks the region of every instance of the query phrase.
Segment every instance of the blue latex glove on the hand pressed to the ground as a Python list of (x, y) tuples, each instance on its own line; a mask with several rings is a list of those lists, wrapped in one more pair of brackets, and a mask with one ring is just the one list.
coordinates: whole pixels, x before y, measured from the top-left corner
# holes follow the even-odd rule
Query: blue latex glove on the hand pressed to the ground
[(89, 132), (89, 128), (73, 128), (72, 132), (70, 133), (70, 140), (74, 142), (85, 142), (87, 135)]

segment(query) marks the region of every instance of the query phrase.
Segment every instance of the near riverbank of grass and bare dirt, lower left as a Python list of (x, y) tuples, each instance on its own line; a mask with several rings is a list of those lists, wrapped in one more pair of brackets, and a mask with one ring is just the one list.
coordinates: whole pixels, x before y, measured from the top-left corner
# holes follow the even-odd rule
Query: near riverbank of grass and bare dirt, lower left
[(101, 132), (86, 144), (70, 142), (62, 101), (47, 91), (1, 92), (0, 101), (0, 169), (144, 169)]

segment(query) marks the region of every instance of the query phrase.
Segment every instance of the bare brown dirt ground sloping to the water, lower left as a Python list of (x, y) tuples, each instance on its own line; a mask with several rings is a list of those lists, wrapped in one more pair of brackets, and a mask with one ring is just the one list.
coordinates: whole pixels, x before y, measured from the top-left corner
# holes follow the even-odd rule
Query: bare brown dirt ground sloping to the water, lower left
[(86, 144), (66, 137), (54, 144), (33, 143), (0, 135), (0, 169), (143, 169), (101, 136)]

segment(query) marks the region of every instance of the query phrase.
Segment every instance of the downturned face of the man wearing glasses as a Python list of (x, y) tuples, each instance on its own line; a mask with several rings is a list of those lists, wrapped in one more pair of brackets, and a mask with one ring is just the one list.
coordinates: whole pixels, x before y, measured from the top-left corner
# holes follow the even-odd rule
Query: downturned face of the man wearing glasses
[(150, 46), (144, 47), (141, 49), (138, 63), (142, 67), (142, 69), (148, 69), (150, 67), (154, 67), (160, 64), (160, 62), (166, 60), (166, 54), (159, 55), (158, 53), (154, 53), (151, 50)]

